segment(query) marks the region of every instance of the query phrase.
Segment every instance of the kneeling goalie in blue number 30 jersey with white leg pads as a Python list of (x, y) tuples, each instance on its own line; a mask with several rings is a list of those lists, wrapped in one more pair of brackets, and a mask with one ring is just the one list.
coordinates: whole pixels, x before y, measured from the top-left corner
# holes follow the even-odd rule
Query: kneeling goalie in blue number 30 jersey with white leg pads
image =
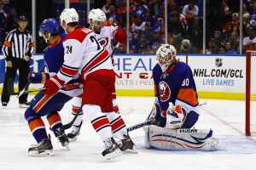
[(153, 69), (156, 98), (147, 118), (155, 122), (144, 127), (146, 146), (162, 150), (216, 150), (221, 142), (212, 138), (212, 129), (196, 129), (193, 134), (192, 131), (177, 131), (193, 127), (200, 116), (189, 65), (177, 61), (176, 49), (169, 44), (161, 45), (156, 57), (158, 64)]

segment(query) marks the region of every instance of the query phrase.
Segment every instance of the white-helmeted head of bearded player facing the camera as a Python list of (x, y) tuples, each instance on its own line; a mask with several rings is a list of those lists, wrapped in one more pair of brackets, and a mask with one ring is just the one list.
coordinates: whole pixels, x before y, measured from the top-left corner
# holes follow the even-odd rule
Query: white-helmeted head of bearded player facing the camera
[(90, 10), (90, 13), (88, 14), (88, 20), (90, 22), (90, 26), (94, 30), (93, 28), (94, 26), (96, 27), (103, 26), (105, 20), (107, 20), (107, 17), (106, 17), (106, 14), (104, 14), (101, 9), (96, 8), (96, 9)]

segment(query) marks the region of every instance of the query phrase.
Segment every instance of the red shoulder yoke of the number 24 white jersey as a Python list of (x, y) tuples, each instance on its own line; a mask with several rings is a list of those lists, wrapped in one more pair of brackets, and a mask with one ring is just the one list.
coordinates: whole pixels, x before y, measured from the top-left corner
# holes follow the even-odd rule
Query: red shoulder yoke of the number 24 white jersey
[(90, 34), (91, 31), (90, 29), (88, 28), (79, 28), (79, 29), (76, 29), (70, 33), (67, 34), (67, 36), (65, 37), (64, 39), (64, 42), (67, 41), (68, 39), (75, 39), (75, 40), (78, 40), (79, 42), (83, 42), (84, 41), (84, 38)]

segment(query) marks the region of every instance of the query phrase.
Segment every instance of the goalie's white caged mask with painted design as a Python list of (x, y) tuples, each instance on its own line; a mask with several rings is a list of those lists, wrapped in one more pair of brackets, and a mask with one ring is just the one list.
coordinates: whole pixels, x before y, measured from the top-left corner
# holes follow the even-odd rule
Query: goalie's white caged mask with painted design
[(159, 59), (159, 65), (161, 70), (164, 72), (175, 61), (176, 49), (172, 45), (162, 44), (156, 52), (156, 58)]

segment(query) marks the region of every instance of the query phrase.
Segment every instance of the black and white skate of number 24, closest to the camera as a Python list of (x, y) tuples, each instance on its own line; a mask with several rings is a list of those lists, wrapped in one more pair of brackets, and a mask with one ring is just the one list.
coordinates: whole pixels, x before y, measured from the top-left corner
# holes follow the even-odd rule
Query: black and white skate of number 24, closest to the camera
[(119, 144), (117, 144), (113, 138), (105, 140), (104, 144), (106, 150), (102, 151), (102, 156), (106, 159), (110, 160), (123, 154), (123, 152), (119, 150)]

